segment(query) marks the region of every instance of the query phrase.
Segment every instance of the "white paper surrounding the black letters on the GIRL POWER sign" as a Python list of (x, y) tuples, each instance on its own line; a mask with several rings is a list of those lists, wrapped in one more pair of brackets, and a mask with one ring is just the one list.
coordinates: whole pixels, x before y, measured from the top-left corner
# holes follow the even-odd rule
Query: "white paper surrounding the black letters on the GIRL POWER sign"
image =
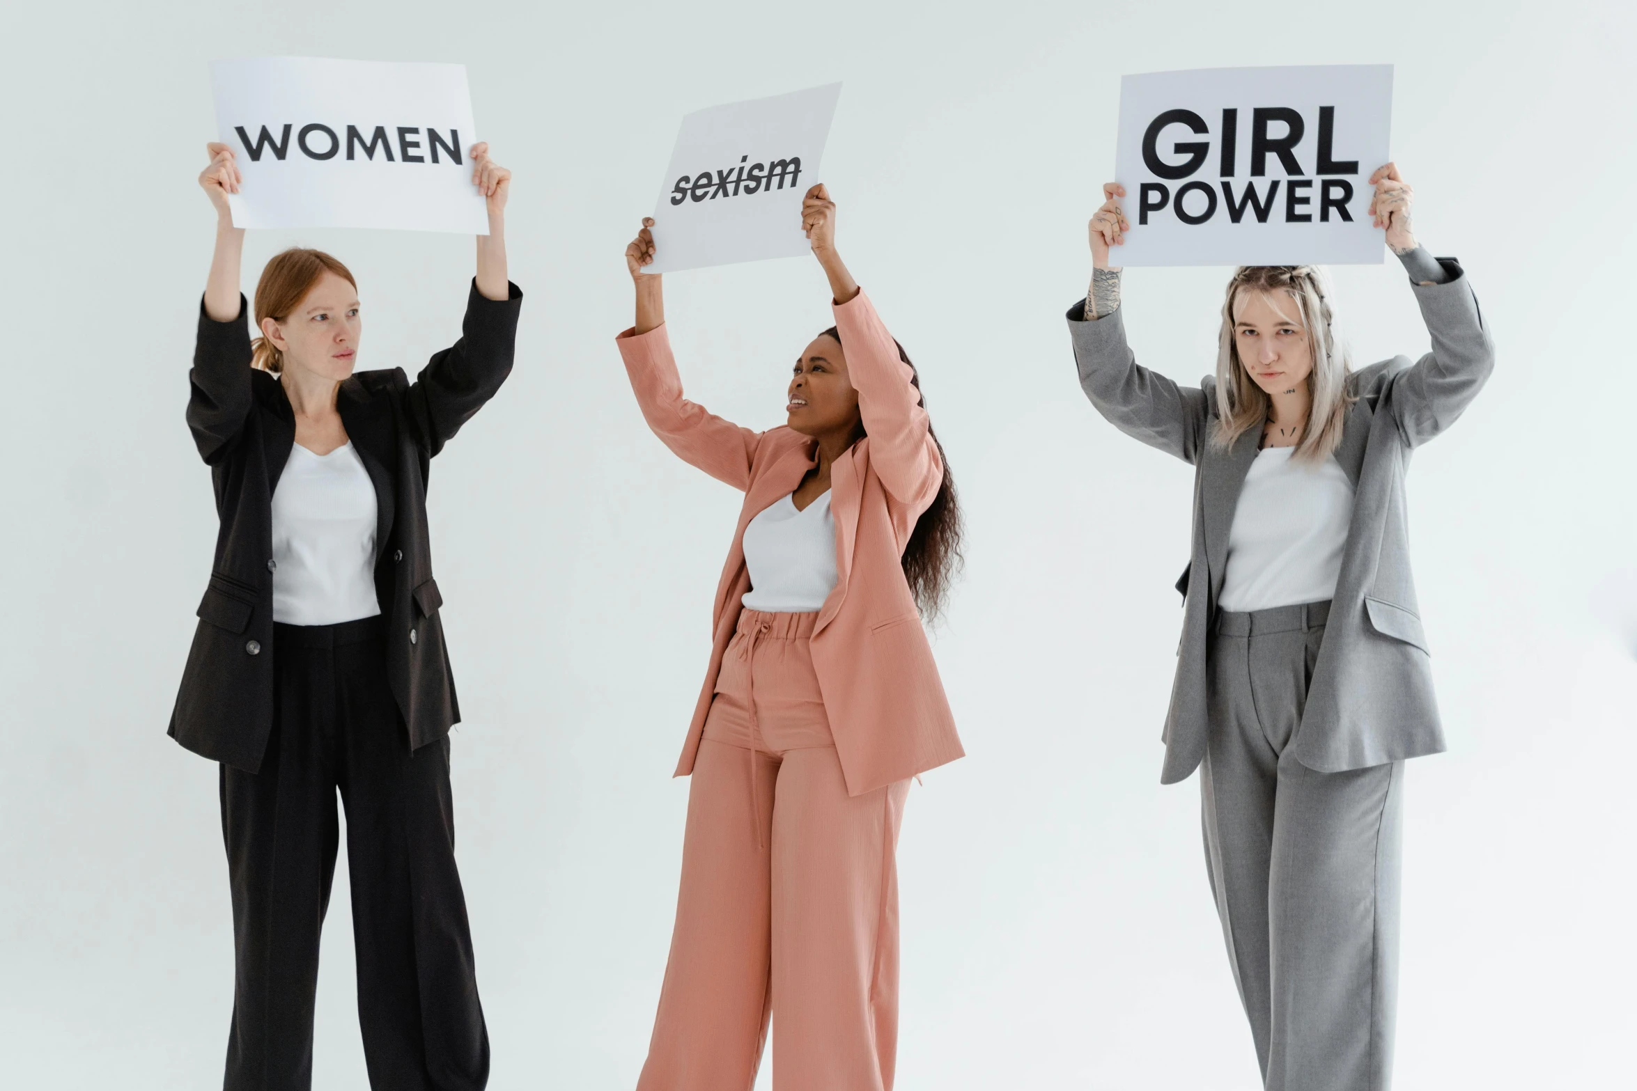
[[(1161, 113), (1172, 108), (1192, 110), (1205, 121), (1208, 132), (1197, 134), (1187, 124), (1164, 126), (1156, 141), (1162, 164), (1182, 165), (1187, 154), (1177, 154), (1177, 144), (1206, 144), (1205, 160), (1187, 178), (1159, 178), (1143, 160), (1143, 141), (1148, 126)], [(1239, 124), (1234, 139), (1234, 177), (1223, 178), (1223, 108), (1238, 110)], [(1256, 110), (1259, 106), (1285, 106), (1295, 110), (1305, 129), (1297, 141), (1293, 155), (1308, 173), (1306, 211), (1297, 214), (1308, 222), (1287, 219), (1290, 177), (1278, 155), (1269, 155), (1265, 178), (1252, 177), (1252, 149), (1256, 144)], [(1337, 160), (1357, 165), (1354, 173), (1341, 180), (1352, 186), (1352, 200), (1346, 203), (1352, 221), (1324, 213), (1324, 185), (1331, 178), (1318, 173), (1319, 110), (1331, 106), (1334, 132), (1331, 150)], [(1372, 65), (1280, 65), (1256, 69), (1206, 69), (1203, 72), (1149, 72), (1120, 80), (1121, 129), (1115, 152), (1115, 182), (1126, 190), (1123, 198), (1131, 231), (1116, 252), (1116, 260), (1126, 267), (1136, 265), (1321, 265), (1347, 262), (1373, 265), (1383, 260), (1387, 247), (1383, 232), (1370, 226), (1370, 175), (1388, 160), (1388, 141), (1393, 114), (1393, 69), (1387, 64)], [(1290, 126), (1275, 123), (1270, 136), (1290, 136)], [(1169, 201), (1149, 213), (1143, 222), (1143, 183), (1154, 182), (1166, 188)], [(1180, 196), (1193, 182), (1206, 186), (1213, 200), (1202, 204), (1198, 196)], [(1278, 188), (1272, 190), (1272, 183)], [(1254, 190), (1257, 200), (1267, 196), (1272, 203), (1265, 222), (1246, 204), (1241, 221), (1233, 213), (1223, 186)], [(1301, 193), (1298, 191), (1298, 196)], [(1185, 201), (1185, 211), (1203, 216), (1206, 208), (1215, 213), (1200, 224), (1188, 224), (1179, 216), (1177, 203)]]

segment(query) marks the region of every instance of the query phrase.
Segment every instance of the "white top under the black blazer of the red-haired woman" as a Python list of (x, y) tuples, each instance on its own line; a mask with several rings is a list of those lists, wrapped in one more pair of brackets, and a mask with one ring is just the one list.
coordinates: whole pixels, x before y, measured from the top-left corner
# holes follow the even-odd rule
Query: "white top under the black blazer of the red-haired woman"
[(273, 620), (339, 625), (375, 617), (375, 484), (352, 443), (291, 443), (273, 489)]

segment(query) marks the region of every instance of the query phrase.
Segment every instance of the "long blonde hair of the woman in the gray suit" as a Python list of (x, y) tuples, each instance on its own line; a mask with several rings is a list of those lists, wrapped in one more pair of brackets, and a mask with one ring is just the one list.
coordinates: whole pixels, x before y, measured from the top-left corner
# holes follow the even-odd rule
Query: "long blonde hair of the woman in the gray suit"
[(1341, 443), (1342, 422), (1354, 401), (1347, 393), (1352, 361), (1347, 348), (1336, 343), (1328, 288), (1324, 273), (1316, 265), (1241, 265), (1234, 270), (1223, 301), (1223, 329), (1216, 345), (1216, 427), (1211, 440), (1218, 447), (1233, 447), (1239, 435), (1260, 424), (1272, 401), (1246, 371), (1234, 339), (1233, 308), (1249, 291), (1275, 299), (1283, 293), (1295, 301), (1301, 326), (1308, 330), (1308, 348), (1313, 353), (1308, 391), (1313, 404), (1293, 458), (1323, 461)]

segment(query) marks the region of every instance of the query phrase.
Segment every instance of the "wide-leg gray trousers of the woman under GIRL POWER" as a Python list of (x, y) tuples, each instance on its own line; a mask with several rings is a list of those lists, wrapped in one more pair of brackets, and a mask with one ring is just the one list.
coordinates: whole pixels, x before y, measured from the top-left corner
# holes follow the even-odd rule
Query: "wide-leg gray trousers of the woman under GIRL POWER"
[(1223, 612), (1200, 770), (1205, 862), (1267, 1091), (1387, 1091), (1403, 762), (1295, 757), (1328, 602)]

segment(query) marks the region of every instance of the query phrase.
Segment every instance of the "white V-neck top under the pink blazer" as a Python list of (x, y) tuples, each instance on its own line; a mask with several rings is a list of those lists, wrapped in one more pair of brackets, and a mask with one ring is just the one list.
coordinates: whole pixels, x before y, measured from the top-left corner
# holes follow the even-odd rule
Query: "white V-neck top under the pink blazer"
[(828, 489), (796, 510), (794, 494), (764, 507), (745, 527), (750, 569), (746, 610), (812, 613), (835, 590), (835, 517)]

